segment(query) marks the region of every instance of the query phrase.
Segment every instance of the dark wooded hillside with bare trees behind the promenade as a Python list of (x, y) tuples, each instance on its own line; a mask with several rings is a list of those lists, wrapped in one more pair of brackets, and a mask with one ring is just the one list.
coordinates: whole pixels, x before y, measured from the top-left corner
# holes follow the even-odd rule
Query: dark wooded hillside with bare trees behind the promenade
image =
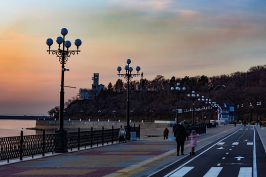
[[(137, 78), (137, 77), (136, 77)], [(195, 94), (211, 99), (211, 102), (223, 105), (223, 103), (235, 103), (235, 111), (239, 119), (256, 120), (257, 116), (265, 120), (266, 103), (266, 65), (251, 67), (247, 72), (235, 72), (230, 75), (220, 75), (207, 77), (205, 75), (179, 78), (173, 76), (166, 79), (162, 75), (157, 75), (153, 80), (143, 79), (130, 82), (130, 119), (135, 121), (174, 120), (176, 109), (176, 92), (171, 91), (171, 86), (176, 86), (180, 82), (180, 87), (186, 87), (185, 91), (179, 92), (179, 108), (183, 113), (179, 114), (179, 120), (184, 118), (190, 120), (191, 112), (185, 110), (192, 109), (192, 98), (187, 94), (195, 91)], [(65, 118), (71, 119), (110, 119), (126, 120), (126, 80), (118, 79), (115, 84), (109, 83), (104, 91), (93, 100), (79, 101), (78, 97), (68, 100), (65, 105)], [(144, 90), (138, 90), (142, 86)], [(257, 106), (257, 102), (261, 102)], [(252, 106), (250, 106), (250, 103)], [(241, 105), (243, 104), (243, 107)], [(239, 108), (237, 108), (239, 105)], [(217, 108), (210, 104), (202, 104), (197, 99), (194, 108), (210, 107), (211, 110), (204, 110), (204, 116), (214, 116)], [(51, 115), (58, 116), (58, 107), (49, 111)], [(202, 112), (195, 111), (195, 118), (201, 120)], [(195, 119), (196, 120), (196, 119)]]

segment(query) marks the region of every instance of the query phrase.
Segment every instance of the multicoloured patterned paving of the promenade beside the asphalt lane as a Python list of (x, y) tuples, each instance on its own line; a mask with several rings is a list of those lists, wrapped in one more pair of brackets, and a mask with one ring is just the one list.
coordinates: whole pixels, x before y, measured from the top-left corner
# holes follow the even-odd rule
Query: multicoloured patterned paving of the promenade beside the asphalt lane
[[(230, 134), (239, 126), (223, 126), (207, 129), (207, 134), (198, 139), (200, 149), (207, 144)], [(256, 127), (266, 145), (266, 128)], [(163, 139), (163, 138), (162, 138)], [(116, 143), (69, 153), (46, 154), (46, 157), (23, 161), (0, 162), (0, 176), (148, 176), (159, 169), (184, 158), (191, 148), (185, 142), (185, 155), (176, 156), (174, 140), (137, 139), (127, 143)], [(196, 152), (197, 153), (197, 152)]]

